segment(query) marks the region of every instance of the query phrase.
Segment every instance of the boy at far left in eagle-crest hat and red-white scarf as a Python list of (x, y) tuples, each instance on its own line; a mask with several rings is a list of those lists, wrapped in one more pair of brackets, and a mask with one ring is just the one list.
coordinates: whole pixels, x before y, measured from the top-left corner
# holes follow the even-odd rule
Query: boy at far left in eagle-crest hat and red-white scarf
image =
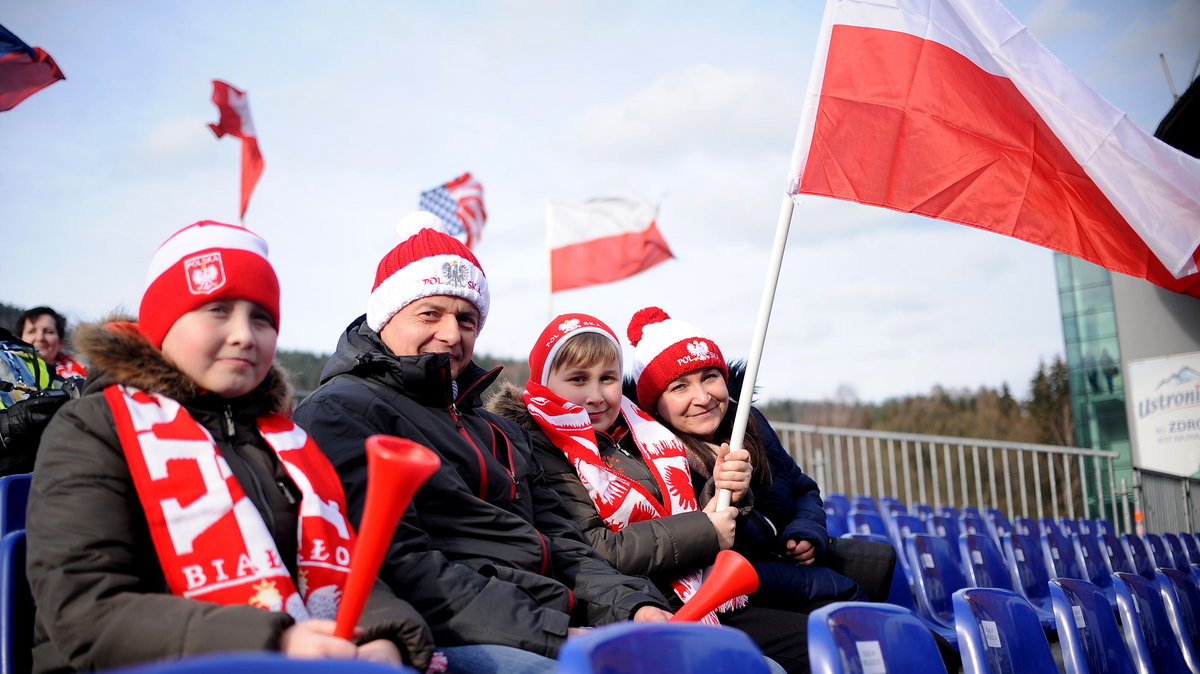
[(150, 263), (137, 323), (80, 327), (84, 396), (42, 439), (29, 504), (34, 669), (234, 650), (424, 668), (428, 626), (382, 584), (334, 636), (354, 530), (286, 415), (266, 242), (198, 222)]

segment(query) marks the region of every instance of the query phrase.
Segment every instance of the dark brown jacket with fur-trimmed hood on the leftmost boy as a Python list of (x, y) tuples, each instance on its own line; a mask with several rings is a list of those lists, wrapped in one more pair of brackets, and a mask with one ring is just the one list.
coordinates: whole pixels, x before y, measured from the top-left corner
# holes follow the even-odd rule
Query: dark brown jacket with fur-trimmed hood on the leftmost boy
[[(174, 596), (157, 562), (103, 389), (122, 383), (174, 398), (209, 429), (295, 576), (299, 489), (258, 434), (254, 419), (290, 405), (282, 372), (235, 399), (199, 395), (140, 335), (91, 325), (77, 339), (92, 363), (83, 398), (42, 438), (28, 517), (29, 579), (37, 606), (37, 672), (91, 670), (230, 650), (277, 650), (286, 613)], [(224, 428), (226, 415), (233, 433)], [(360, 625), (425, 667), (428, 626), (379, 584)]]

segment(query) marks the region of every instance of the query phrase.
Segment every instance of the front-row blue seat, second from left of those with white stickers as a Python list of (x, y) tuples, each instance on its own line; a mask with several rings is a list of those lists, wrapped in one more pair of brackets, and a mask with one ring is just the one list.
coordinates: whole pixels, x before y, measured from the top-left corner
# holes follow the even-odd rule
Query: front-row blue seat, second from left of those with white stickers
[(1038, 614), (1012, 590), (954, 592), (954, 626), (965, 674), (1057, 672)]

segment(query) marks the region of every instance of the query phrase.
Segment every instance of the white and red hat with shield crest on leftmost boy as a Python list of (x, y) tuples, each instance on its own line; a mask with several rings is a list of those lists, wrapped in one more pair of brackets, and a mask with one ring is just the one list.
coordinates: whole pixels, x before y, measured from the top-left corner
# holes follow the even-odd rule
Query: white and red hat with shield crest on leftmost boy
[(150, 258), (138, 307), (139, 330), (155, 348), (179, 317), (208, 302), (250, 300), (280, 326), (280, 279), (266, 241), (235, 224), (202, 221), (173, 234)]

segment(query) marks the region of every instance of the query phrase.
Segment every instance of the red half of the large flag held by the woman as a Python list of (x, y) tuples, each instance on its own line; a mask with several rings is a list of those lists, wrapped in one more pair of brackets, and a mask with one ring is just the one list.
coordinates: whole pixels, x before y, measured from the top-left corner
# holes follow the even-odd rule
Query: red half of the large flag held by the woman
[(799, 192), (968, 224), (1200, 296), (1200, 275), (1166, 271), (1010, 80), (910, 34), (833, 26)]

